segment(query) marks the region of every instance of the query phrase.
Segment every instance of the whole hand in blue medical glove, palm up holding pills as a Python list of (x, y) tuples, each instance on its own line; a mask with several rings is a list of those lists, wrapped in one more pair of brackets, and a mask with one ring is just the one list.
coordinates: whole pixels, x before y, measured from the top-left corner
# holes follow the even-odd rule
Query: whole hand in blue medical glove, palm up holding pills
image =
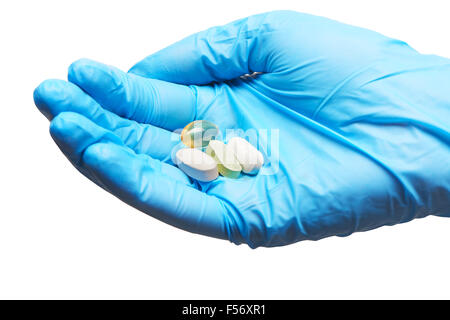
[[(89, 179), (176, 227), (254, 248), (450, 215), (450, 60), (376, 32), (271, 12), (128, 73), (79, 60), (68, 79), (34, 93), (55, 142)], [(279, 129), (266, 174), (188, 178), (171, 162), (172, 131), (194, 119)]]

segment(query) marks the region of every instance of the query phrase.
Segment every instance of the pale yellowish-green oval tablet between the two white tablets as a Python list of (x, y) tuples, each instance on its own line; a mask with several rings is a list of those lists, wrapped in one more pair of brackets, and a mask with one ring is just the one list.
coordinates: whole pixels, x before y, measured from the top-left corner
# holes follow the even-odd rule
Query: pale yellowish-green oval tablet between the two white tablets
[(211, 140), (206, 148), (206, 153), (217, 162), (219, 173), (224, 177), (238, 178), (241, 174), (242, 167), (233, 150), (222, 141)]

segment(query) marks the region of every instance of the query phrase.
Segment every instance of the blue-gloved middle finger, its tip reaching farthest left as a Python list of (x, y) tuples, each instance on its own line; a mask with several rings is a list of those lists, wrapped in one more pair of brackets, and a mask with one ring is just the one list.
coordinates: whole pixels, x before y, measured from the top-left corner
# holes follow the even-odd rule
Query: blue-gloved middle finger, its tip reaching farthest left
[(164, 162), (171, 162), (171, 152), (180, 140), (176, 133), (152, 125), (139, 124), (103, 109), (79, 87), (67, 81), (44, 81), (34, 91), (34, 100), (49, 120), (61, 112), (79, 113), (112, 131), (136, 153), (145, 153)]

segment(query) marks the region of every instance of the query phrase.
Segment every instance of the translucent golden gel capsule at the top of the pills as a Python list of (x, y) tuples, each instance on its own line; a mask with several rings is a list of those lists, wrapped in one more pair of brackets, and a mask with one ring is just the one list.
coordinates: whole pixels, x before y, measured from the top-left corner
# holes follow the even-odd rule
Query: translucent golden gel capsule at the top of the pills
[(189, 148), (204, 148), (219, 134), (219, 128), (207, 120), (196, 120), (181, 131), (181, 141)]

